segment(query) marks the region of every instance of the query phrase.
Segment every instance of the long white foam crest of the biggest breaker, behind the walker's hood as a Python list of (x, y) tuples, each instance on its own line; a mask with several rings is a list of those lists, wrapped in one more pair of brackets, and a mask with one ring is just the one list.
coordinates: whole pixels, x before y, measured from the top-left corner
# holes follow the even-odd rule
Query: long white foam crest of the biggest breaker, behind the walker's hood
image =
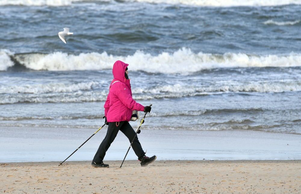
[(49, 71), (111, 69), (116, 60), (122, 60), (130, 64), (131, 70), (165, 74), (189, 74), (210, 68), (301, 66), (299, 53), (283, 56), (256, 56), (245, 53), (211, 54), (193, 53), (189, 48), (182, 48), (174, 53), (163, 52), (157, 56), (138, 50), (129, 56), (113, 56), (106, 52), (79, 55), (55, 52), (46, 55), (16, 55), (15, 59), (27, 68)]

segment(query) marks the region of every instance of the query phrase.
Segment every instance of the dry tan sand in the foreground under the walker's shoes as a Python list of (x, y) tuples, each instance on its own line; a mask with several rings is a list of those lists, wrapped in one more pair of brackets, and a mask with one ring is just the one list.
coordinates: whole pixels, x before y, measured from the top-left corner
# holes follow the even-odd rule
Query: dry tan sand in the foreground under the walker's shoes
[(0, 193), (300, 193), (301, 161), (0, 164)]

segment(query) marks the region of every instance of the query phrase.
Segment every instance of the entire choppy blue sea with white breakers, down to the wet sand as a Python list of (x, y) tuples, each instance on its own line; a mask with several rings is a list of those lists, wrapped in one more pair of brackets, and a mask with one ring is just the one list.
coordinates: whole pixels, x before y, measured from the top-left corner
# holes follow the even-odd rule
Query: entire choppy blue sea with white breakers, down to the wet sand
[(300, 15), (299, 0), (2, 0), (0, 127), (98, 129), (122, 60), (153, 104), (145, 130), (301, 134)]

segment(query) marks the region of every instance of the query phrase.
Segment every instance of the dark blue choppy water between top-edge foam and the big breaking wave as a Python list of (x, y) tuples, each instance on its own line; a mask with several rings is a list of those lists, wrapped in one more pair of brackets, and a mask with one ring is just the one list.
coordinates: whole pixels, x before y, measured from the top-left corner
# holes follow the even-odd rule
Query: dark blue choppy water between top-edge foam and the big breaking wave
[[(139, 2), (2, 6), (0, 44), (15, 53), (300, 52), (301, 5), (200, 7)], [(68, 43), (57, 32), (69, 27)]]

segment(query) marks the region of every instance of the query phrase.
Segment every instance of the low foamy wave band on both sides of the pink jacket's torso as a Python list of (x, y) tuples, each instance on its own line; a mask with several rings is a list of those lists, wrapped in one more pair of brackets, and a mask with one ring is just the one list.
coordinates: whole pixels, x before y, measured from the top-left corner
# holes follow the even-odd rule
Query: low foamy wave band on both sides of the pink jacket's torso
[[(64, 86), (56, 85), (55, 87), (36, 85), (37, 89), (34, 89), (35, 86), (29, 88), (27, 86), (8, 89), (2, 88), (2, 92), (6, 91), (7, 93), (2, 94), (4, 95), (3, 97), (0, 94), (0, 104), (105, 101), (107, 99), (107, 89), (91, 91), (90, 88), (95, 84), (97, 83), (89, 82)], [(211, 84), (210, 86), (173, 84), (153, 88), (133, 88), (132, 91), (135, 100), (182, 98), (187, 96), (222, 94), (224, 92), (290, 92), (301, 91), (301, 81), (229, 82), (221, 85)]]

